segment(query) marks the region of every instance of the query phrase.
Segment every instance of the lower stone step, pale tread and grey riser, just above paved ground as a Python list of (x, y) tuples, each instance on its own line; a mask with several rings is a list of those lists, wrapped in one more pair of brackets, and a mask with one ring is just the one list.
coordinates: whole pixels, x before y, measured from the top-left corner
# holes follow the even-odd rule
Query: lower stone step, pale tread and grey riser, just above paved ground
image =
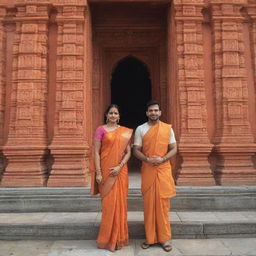
[[(100, 212), (1, 213), (0, 240), (94, 240)], [(170, 213), (173, 238), (256, 237), (256, 212)], [(128, 212), (131, 239), (144, 238), (143, 212)]]

